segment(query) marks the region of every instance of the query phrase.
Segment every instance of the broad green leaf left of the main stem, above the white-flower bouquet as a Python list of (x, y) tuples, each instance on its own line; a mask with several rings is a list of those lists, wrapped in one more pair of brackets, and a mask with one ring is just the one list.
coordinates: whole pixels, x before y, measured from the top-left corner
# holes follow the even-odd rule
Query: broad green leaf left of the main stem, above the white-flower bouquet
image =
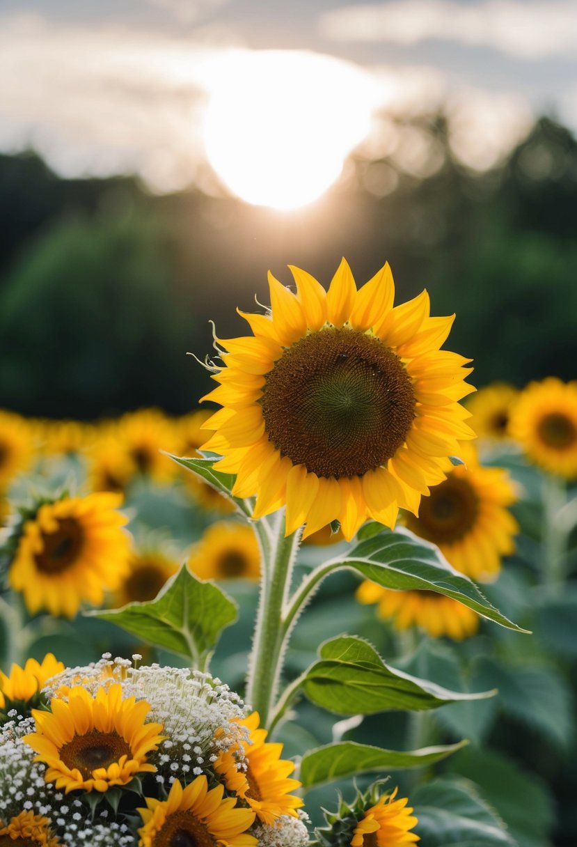
[(183, 565), (155, 600), (86, 614), (204, 667), (223, 628), (236, 620), (237, 608), (217, 585), (196, 579)]

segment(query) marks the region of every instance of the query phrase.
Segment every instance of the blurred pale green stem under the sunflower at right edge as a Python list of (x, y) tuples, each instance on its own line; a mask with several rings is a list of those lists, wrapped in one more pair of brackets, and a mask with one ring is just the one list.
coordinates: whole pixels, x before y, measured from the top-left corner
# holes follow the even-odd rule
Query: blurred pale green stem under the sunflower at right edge
[(543, 583), (552, 593), (558, 594), (565, 582), (567, 533), (559, 523), (559, 513), (567, 501), (564, 479), (543, 476)]

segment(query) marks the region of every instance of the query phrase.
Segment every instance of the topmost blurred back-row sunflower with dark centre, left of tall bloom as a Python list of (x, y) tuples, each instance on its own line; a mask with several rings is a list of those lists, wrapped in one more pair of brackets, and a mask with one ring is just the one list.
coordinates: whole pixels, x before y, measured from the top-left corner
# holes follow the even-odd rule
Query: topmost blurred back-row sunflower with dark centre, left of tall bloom
[(174, 450), (173, 425), (158, 409), (140, 409), (118, 422), (118, 441), (133, 464), (134, 473), (156, 482), (173, 478), (175, 465), (161, 451)]

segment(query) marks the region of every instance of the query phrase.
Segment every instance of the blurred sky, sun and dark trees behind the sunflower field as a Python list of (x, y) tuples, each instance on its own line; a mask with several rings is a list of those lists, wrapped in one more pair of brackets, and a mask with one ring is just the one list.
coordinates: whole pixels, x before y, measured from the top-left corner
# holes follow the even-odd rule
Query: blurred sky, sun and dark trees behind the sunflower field
[(574, 0), (2, 0), (0, 406), (188, 412), (343, 255), (476, 385), (573, 378), (576, 129)]

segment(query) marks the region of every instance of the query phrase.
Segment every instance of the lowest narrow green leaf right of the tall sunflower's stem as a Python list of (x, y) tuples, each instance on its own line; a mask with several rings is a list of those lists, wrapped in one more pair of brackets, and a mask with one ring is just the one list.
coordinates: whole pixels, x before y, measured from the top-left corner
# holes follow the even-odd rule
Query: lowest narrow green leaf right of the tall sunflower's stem
[(300, 762), (300, 782), (305, 789), (352, 777), (357, 773), (393, 771), (399, 767), (424, 767), (450, 756), (466, 745), (425, 747), (422, 750), (382, 750), (380, 747), (343, 741), (310, 750)]

